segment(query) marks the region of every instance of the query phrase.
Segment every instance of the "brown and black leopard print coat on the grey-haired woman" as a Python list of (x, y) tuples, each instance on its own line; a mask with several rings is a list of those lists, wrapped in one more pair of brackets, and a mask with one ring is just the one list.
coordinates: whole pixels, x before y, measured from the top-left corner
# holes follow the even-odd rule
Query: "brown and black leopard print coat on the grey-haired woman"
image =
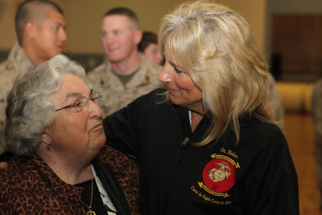
[[(131, 214), (139, 215), (137, 161), (107, 145), (97, 160), (114, 171)], [(14, 157), (0, 173), (0, 214), (85, 214), (82, 191), (62, 181), (38, 155)]]

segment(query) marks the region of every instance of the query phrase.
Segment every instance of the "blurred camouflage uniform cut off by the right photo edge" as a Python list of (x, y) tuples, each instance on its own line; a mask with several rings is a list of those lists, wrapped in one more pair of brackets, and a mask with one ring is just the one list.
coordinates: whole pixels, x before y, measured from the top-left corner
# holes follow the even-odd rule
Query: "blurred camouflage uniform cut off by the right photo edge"
[(322, 79), (313, 87), (312, 117), (315, 123), (315, 157), (317, 160), (317, 186), (322, 191)]

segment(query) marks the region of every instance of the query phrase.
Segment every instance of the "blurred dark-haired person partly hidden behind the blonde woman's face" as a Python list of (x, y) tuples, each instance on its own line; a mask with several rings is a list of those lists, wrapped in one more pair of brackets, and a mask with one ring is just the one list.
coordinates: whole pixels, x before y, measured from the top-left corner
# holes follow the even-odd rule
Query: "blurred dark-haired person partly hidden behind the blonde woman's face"
[(138, 50), (144, 54), (148, 61), (164, 65), (163, 57), (158, 48), (156, 34), (152, 32), (143, 32), (142, 40), (138, 45)]

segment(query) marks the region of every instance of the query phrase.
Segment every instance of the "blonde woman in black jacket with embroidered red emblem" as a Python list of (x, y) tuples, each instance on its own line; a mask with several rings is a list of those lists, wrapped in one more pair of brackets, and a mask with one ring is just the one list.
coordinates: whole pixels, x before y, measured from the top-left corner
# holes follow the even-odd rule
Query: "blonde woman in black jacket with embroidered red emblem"
[(158, 38), (168, 89), (103, 120), (108, 144), (140, 162), (142, 214), (299, 214), (267, 62), (246, 21), (188, 2), (162, 19)]

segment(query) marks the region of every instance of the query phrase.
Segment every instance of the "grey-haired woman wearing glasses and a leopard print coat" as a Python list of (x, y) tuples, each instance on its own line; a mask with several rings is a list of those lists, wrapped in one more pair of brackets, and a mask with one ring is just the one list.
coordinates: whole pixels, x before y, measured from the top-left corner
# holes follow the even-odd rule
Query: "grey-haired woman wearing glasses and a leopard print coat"
[(16, 157), (0, 173), (1, 214), (139, 214), (138, 169), (105, 146), (100, 97), (63, 55), (15, 81), (5, 143)]

